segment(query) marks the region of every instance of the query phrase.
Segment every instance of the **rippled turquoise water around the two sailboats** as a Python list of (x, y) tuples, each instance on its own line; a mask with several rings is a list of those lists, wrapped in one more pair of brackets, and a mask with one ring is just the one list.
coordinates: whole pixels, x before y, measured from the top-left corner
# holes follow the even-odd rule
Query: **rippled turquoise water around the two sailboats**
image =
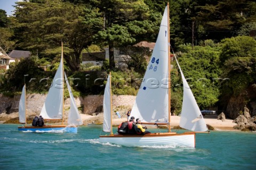
[[(196, 148), (139, 148), (99, 142), (101, 129), (18, 132), (0, 124), (1, 169), (255, 169), (256, 132), (196, 135)], [(151, 130), (152, 131), (152, 130)], [(154, 131), (154, 130), (153, 130)], [(101, 133), (102, 134), (102, 133)]]

